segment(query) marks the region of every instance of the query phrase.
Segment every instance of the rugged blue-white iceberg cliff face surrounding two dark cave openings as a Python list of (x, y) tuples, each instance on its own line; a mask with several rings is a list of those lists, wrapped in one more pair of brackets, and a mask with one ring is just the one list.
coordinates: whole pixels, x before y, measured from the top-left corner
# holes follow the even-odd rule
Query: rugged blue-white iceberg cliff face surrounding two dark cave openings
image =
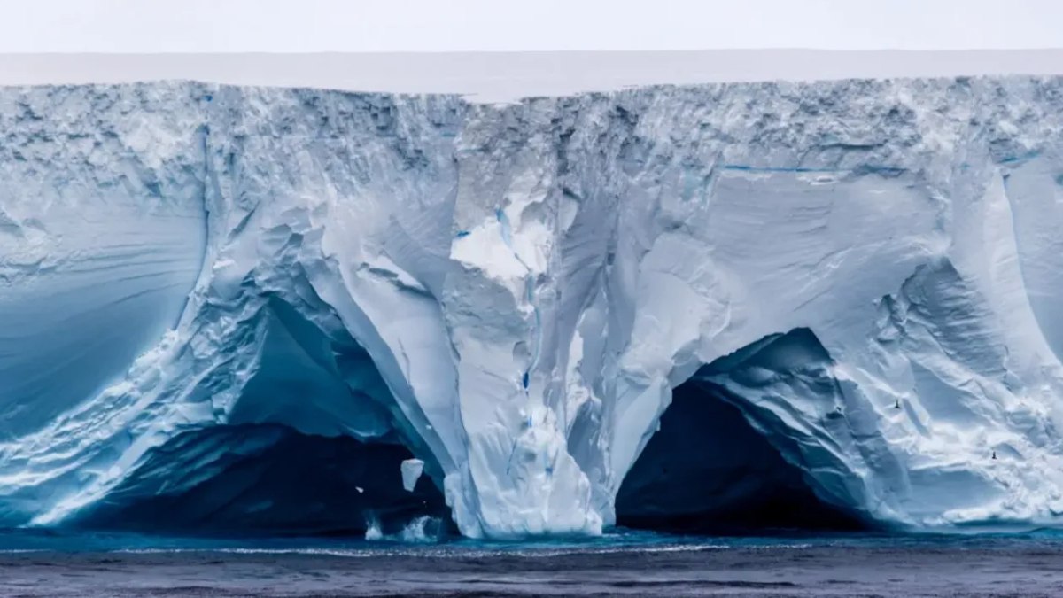
[(4, 89), (0, 522), (284, 423), (406, 445), (466, 535), (597, 534), (695, 376), (826, 503), (1051, 522), (1061, 127), (1052, 78)]

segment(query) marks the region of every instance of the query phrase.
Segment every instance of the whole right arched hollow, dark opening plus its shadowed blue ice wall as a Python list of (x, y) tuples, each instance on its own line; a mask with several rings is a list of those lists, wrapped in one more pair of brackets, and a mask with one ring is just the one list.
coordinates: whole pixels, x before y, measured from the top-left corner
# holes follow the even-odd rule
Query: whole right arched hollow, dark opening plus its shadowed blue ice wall
[[(831, 485), (853, 472), (830, 456), (833, 437), (847, 431), (829, 362), (815, 335), (797, 329), (699, 368), (673, 389), (625, 476), (617, 522), (687, 531), (865, 525), (849, 494), (857, 491)], [(794, 419), (807, 414), (815, 415)], [(833, 436), (809, 433), (816, 422)], [(837, 477), (825, 475), (831, 468)]]

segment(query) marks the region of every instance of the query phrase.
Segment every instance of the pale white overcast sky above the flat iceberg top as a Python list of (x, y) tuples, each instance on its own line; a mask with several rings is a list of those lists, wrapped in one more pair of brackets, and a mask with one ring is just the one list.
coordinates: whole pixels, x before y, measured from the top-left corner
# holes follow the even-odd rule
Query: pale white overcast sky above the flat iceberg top
[(0, 0), (0, 52), (1063, 48), (1063, 0)]

